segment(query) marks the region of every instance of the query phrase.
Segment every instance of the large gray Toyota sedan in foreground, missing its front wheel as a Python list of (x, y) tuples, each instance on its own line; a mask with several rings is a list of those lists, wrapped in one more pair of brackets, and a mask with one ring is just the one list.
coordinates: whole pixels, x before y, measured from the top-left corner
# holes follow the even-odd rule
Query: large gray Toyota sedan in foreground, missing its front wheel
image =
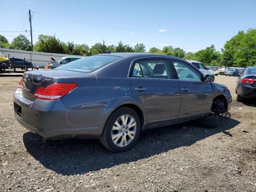
[(54, 70), (25, 72), (14, 93), (18, 122), (45, 138), (99, 138), (121, 152), (141, 130), (200, 119), (217, 126), (230, 109), (224, 85), (186, 60), (115, 53), (90, 56)]

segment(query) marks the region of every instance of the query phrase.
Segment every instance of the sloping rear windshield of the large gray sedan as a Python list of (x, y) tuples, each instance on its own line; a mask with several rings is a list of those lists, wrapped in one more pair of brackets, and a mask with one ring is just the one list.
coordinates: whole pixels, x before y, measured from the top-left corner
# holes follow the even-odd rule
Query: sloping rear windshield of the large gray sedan
[(103, 65), (109, 64), (121, 58), (122, 57), (110, 56), (110, 55), (90, 56), (90, 57), (85, 57), (82, 59), (75, 60), (68, 64), (64, 64), (60, 67), (57, 67), (56, 69), (90, 72)]

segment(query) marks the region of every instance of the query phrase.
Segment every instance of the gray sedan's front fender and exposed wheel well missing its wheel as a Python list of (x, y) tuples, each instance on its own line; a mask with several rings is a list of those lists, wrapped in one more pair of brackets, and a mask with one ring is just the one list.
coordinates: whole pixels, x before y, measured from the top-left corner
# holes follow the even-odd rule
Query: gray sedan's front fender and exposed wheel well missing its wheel
[(222, 84), (212, 82), (213, 88), (213, 103), (212, 103), (212, 112), (218, 114), (224, 118), (230, 118), (231, 114), (228, 112), (231, 108), (232, 96), (228, 88)]

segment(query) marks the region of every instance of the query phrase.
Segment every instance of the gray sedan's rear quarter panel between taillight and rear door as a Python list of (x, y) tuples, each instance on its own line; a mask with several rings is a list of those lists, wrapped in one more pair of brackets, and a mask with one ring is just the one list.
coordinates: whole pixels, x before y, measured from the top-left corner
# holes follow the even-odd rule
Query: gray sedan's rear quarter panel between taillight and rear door
[(124, 104), (134, 104), (145, 114), (142, 104), (131, 92), (130, 78), (127, 77), (129, 67), (128, 60), (83, 75), (54, 78), (53, 82), (78, 83), (76, 89), (61, 99), (68, 108), (68, 123), (73, 126), (89, 126), (106, 122), (108, 116)]

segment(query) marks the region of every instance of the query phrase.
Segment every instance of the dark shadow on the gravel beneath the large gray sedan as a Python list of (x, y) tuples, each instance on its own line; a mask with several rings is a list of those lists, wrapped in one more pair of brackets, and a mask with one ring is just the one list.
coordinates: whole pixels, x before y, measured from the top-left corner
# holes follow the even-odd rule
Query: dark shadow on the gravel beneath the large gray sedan
[(208, 128), (207, 131), (206, 128), (192, 126), (191, 122), (146, 130), (141, 132), (134, 148), (122, 153), (110, 152), (99, 140), (47, 140), (45, 148), (42, 148), (43, 138), (26, 132), (23, 141), (28, 153), (47, 169), (62, 175), (75, 175), (190, 146), (220, 132), (227, 135), (227, 130), (238, 124), (240, 122), (232, 118), (220, 118), (218, 128)]

